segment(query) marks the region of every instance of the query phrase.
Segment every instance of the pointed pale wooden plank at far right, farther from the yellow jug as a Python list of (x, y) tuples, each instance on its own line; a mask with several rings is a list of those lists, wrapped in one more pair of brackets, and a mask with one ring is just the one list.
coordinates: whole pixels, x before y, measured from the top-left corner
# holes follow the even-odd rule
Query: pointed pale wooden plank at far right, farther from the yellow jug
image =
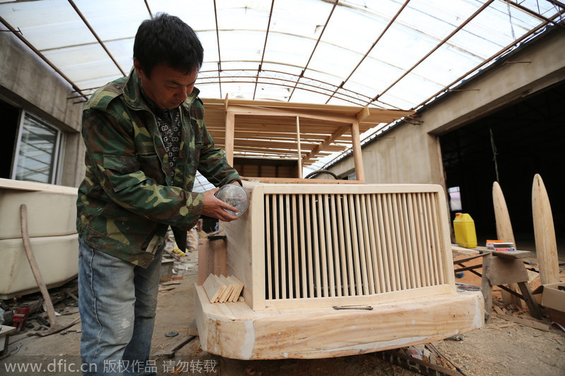
[(535, 253), (542, 284), (559, 282), (559, 260), (552, 208), (540, 174), (535, 174), (532, 187)]

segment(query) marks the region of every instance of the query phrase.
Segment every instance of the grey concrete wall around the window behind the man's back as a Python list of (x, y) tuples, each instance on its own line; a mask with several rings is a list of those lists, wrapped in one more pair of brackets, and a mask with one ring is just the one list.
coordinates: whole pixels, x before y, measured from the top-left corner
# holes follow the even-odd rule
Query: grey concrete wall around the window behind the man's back
[(0, 32), (0, 98), (57, 126), (66, 135), (61, 184), (78, 186), (84, 176), (81, 116), (76, 92), (11, 32)]

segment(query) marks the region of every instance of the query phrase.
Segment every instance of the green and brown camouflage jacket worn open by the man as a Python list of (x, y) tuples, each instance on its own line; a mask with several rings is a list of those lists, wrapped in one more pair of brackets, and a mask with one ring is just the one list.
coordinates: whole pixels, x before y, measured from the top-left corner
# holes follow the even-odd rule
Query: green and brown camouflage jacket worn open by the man
[(174, 171), (137, 73), (101, 87), (83, 111), (86, 174), (78, 188), (78, 235), (109, 255), (147, 267), (168, 226), (191, 229), (203, 193), (191, 192), (196, 170), (215, 186), (239, 180), (214, 146), (194, 91), (181, 105), (182, 140)]

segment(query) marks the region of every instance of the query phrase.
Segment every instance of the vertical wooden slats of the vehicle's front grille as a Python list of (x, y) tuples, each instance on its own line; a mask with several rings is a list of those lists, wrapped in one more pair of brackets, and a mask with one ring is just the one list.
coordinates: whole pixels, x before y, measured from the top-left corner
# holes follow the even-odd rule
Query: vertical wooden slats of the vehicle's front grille
[(446, 283), (436, 193), (266, 194), (266, 299)]

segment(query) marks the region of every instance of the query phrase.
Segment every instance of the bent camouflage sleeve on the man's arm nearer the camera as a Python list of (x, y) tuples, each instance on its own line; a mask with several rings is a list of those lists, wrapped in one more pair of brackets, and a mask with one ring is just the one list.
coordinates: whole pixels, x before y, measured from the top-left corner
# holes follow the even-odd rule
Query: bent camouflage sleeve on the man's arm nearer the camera
[[(162, 224), (190, 229), (203, 209), (202, 193), (163, 186), (141, 171), (136, 127), (95, 109), (83, 111), (83, 138), (90, 168), (104, 193), (117, 205)], [(104, 210), (104, 208), (100, 208)]]

